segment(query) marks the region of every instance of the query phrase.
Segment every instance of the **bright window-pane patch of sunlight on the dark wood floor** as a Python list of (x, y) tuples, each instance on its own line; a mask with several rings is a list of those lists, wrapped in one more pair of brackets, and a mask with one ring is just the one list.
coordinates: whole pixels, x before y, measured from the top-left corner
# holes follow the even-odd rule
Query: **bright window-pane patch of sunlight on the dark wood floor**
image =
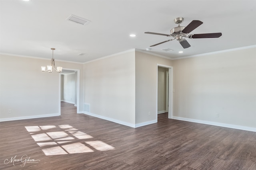
[(75, 154), (114, 150), (102, 141), (70, 125), (25, 126), (45, 155)]

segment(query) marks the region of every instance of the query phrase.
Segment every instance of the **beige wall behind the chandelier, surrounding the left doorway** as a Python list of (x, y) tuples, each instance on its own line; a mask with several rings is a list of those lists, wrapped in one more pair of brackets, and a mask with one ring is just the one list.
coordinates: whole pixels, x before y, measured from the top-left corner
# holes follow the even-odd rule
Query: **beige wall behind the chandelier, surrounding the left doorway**
[[(1, 121), (60, 114), (60, 74), (42, 72), (41, 66), (47, 64), (50, 64), (50, 59), (0, 55)], [(83, 68), (83, 64), (76, 63), (56, 61), (56, 65), (64, 68)], [(83, 81), (80, 83), (82, 85)], [(81, 94), (80, 97), (82, 96)], [(12, 113), (8, 113), (9, 109)]]

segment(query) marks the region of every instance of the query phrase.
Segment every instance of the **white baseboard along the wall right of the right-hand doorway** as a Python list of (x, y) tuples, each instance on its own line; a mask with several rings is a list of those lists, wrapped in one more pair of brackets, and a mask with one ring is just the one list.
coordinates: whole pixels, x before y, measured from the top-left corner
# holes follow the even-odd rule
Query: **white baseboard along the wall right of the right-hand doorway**
[(198, 120), (198, 119), (189, 119), (189, 118), (176, 117), (176, 116), (172, 116), (172, 119), (182, 120), (182, 121), (190, 121), (190, 122), (194, 122), (194, 123), (202, 123), (202, 124), (206, 124), (206, 125), (228, 127), (228, 128), (239, 129), (239, 130), (244, 130), (244, 131), (256, 132), (255, 127), (247, 127), (247, 126), (232, 125), (232, 124), (226, 124), (226, 123), (218, 123), (218, 122), (214, 122), (214, 121), (203, 121), (203, 120)]

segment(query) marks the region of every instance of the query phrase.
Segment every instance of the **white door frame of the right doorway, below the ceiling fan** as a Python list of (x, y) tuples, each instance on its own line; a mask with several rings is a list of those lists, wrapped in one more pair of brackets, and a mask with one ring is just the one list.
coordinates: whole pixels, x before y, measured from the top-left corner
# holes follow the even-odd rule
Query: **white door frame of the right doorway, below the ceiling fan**
[[(168, 118), (172, 119), (172, 111), (173, 111), (173, 67), (164, 65), (164, 64), (156, 64), (156, 80), (158, 80), (158, 66), (168, 68), (169, 70), (169, 90), (168, 90)], [(158, 109), (158, 81), (156, 81), (156, 120), (157, 120), (157, 109)]]

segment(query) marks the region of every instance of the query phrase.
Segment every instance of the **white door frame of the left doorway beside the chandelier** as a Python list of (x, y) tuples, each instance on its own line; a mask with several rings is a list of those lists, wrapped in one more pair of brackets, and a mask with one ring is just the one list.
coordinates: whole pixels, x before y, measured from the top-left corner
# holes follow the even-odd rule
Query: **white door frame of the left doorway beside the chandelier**
[[(72, 69), (72, 68), (62, 68), (62, 70), (72, 70), (77, 72), (77, 86), (76, 86), (76, 113), (80, 113), (80, 70), (79, 69)], [(60, 109), (60, 102), (61, 102), (61, 74), (59, 74), (59, 113), (61, 115)]]

